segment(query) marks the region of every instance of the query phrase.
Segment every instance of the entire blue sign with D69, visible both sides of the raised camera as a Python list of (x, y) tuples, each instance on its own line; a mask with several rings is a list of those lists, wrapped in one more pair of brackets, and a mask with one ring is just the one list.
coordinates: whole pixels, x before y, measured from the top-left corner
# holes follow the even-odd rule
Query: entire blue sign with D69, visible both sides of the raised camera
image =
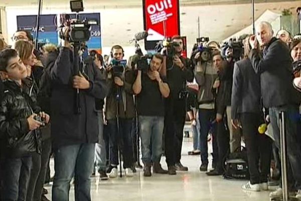
[[(75, 19), (75, 14), (69, 14), (71, 19)], [(40, 28), (38, 35), (39, 43), (53, 43), (59, 45), (59, 37), (57, 33), (57, 15), (41, 15)], [(83, 13), (79, 14), (81, 20), (96, 20), (98, 25), (91, 26), (91, 37), (86, 43), (89, 49), (101, 50), (101, 31), (100, 31), (100, 14), (99, 13)], [(35, 36), (37, 16), (17, 16), (18, 30), (29, 30)]]

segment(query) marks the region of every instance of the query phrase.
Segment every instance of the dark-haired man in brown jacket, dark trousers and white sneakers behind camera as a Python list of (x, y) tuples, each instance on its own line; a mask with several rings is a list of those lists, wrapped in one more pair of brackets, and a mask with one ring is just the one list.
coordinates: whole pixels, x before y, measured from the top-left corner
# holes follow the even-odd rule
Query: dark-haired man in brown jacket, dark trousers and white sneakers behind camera
[[(121, 46), (111, 48), (111, 65), (107, 68), (107, 83), (109, 93), (106, 98), (105, 119), (110, 131), (110, 165), (107, 169), (109, 177), (117, 177), (118, 148), (122, 149), (123, 168), (127, 177), (133, 176), (133, 140), (131, 136), (132, 121), (135, 117), (132, 84), (133, 71), (121, 64), (124, 51)], [(118, 63), (117, 65), (114, 62)], [(118, 108), (118, 111), (117, 111)], [(118, 119), (117, 119), (118, 118)], [(119, 121), (117, 121), (119, 120)], [(119, 122), (119, 125), (117, 125)], [(123, 143), (123, 146), (121, 146)]]

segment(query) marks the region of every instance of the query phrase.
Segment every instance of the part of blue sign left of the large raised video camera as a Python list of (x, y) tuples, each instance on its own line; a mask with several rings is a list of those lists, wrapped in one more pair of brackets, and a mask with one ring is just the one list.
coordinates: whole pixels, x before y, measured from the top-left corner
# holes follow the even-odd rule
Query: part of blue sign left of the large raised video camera
[[(38, 35), (39, 43), (58, 44), (58, 33), (55, 25), (56, 15), (41, 15)], [(29, 30), (36, 34), (37, 16), (17, 16), (18, 30)]]

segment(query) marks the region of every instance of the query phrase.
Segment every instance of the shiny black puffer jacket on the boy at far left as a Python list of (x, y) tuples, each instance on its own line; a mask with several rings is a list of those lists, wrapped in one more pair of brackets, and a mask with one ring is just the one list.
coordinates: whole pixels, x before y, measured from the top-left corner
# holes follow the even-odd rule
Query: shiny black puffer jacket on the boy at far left
[(24, 84), (22, 88), (17, 82), (6, 80), (4, 96), (0, 102), (0, 138), (4, 142), (2, 152), (7, 157), (23, 157), (41, 151), (41, 135), (39, 130), (30, 131), (27, 118), (40, 111)]

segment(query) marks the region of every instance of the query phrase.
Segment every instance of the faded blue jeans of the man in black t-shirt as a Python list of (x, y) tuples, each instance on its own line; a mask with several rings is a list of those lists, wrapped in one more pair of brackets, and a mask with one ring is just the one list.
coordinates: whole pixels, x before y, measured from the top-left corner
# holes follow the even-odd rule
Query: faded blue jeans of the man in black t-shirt
[(160, 162), (164, 117), (139, 116), (139, 129), (143, 163)]

